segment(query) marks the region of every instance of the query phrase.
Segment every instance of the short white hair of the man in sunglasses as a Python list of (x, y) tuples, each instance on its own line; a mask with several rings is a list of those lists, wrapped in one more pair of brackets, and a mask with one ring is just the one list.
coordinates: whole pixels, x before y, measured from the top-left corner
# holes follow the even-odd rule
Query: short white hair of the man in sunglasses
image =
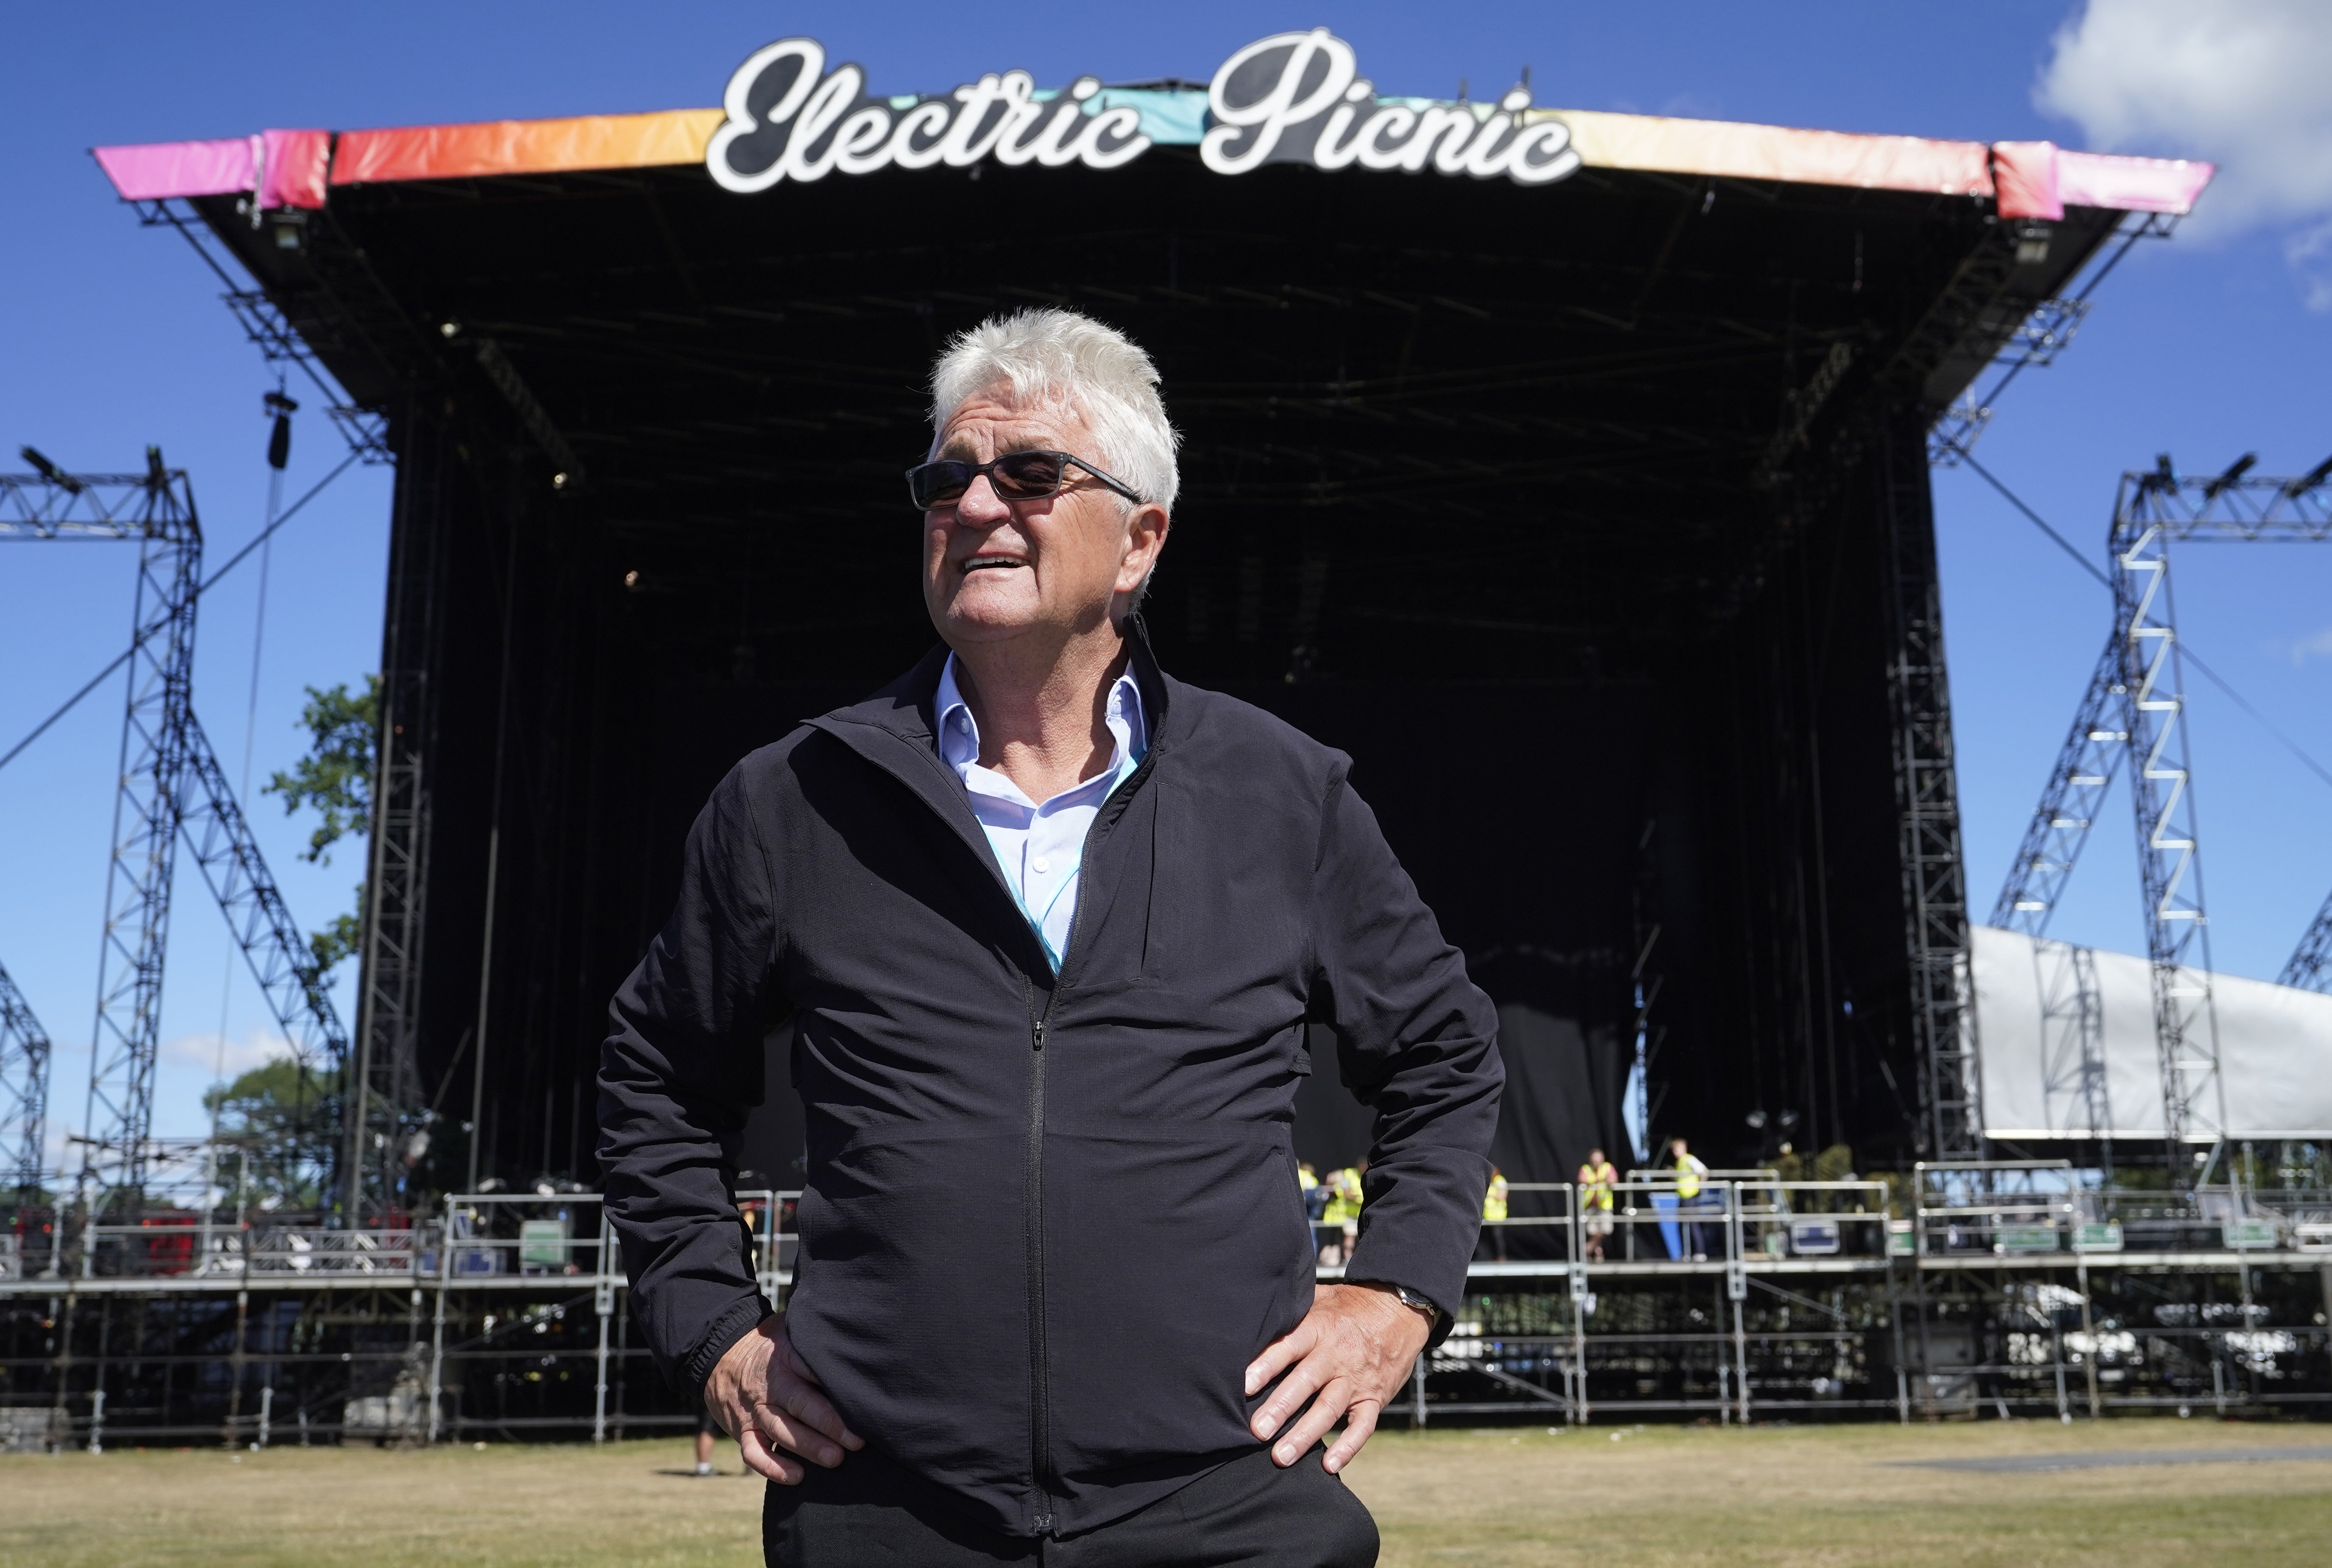
[(1143, 501), (1173, 510), (1182, 436), (1166, 419), (1159, 370), (1133, 338), (1075, 310), (1017, 310), (956, 338), (930, 366), (930, 450), (965, 398), (1012, 389), (1014, 408), (1063, 405), (1094, 433), (1091, 457)]

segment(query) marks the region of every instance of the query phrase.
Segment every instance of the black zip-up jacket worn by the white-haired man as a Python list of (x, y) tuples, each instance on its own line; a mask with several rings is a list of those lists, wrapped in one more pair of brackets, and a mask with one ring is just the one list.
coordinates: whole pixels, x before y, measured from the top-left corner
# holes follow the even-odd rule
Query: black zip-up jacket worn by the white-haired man
[(935, 650), (730, 771), (599, 1069), (632, 1312), (700, 1389), (770, 1309), (730, 1181), (793, 1020), (793, 1344), (854, 1431), (1014, 1535), (1257, 1447), (1245, 1368), (1313, 1298), (1306, 1023), (1376, 1107), (1348, 1277), (1444, 1309), (1504, 1083), (1350, 760), (1131, 643), (1150, 753), (1094, 818), (1059, 976), (933, 746)]

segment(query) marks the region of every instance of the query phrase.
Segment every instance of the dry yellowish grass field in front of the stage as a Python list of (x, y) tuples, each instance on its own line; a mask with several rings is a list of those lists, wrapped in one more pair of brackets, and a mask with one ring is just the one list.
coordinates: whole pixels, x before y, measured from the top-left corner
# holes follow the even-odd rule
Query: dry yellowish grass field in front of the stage
[[(1926, 1458), (2320, 1445), (2320, 1458), (1968, 1472)], [(758, 1563), (760, 1484), (700, 1482), (688, 1442), (0, 1458), (0, 1566), (602, 1568)], [(2320, 1568), (2332, 1431), (2057, 1426), (1385, 1433), (1350, 1472), (1385, 1566), (1768, 1563)]]

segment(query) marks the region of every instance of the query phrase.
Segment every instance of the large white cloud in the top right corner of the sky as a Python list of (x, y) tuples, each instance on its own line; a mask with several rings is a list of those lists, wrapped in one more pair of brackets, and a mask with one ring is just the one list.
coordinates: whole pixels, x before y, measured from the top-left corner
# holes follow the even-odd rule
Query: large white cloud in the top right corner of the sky
[[(2087, 0), (2054, 47), (2034, 105), (2089, 147), (2220, 165), (2199, 228), (2332, 217), (2332, 2)], [(2311, 245), (2325, 310), (2332, 238)]]

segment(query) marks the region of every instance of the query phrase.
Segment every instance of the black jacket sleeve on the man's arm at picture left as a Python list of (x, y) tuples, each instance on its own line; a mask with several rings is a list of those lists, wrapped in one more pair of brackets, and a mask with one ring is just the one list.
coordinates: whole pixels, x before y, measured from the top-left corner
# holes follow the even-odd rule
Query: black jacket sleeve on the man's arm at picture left
[(688, 1393), (772, 1309), (730, 1167), (763, 1093), (774, 946), (770, 860), (739, 767), (688, 834), (679, 902), (609, 1004), (599, 1053), (599, 1165), (632, 1319)]

